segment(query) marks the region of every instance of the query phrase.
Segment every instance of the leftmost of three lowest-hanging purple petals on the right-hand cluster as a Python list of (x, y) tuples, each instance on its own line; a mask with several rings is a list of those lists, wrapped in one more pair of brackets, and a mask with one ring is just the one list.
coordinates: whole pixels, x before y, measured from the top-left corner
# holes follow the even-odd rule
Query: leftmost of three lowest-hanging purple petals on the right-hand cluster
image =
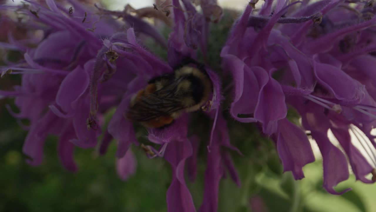
[(278, 123), (277, 151), (285, 171), (291, 171), (296, 180), (304, 178), (303, 166), (315, 161), (307, 135), (286, 118)]

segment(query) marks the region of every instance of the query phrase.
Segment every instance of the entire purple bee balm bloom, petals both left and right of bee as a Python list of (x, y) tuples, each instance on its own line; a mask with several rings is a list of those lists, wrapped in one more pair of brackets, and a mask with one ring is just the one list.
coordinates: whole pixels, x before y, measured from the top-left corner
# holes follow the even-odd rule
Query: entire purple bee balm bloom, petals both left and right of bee
[[(115, 140), (117, 172), (127, 180), (136, 171), (130, 148), (134, 144), (149, 158), (161, 157), (170, 163), (168, 211), (192, 212), (196, 207), (185, 171), (191, 181), (196, 178), (199, 147), (203, 145), (207, 166), (198, 211), (217, 211), (221, 179), (229, 176), (241, 185), (229, 154), (229, 150), (240, 151), (230, 144), (218, 74), (206, 63), (200, 66), (212, 85), (202, 106), (202, 114), (211, 120), (208, 141), (189, 128), (194, 119), (191, 113), (182, 113), (163, 128), (147, 128), (152, 145), (137, 141), (134, 123), (126, 118), (132, 101), (147, 93), (149, 80), (173, 73), (186, 58), (197, 60), (199, 51), (207, 62), (209, 24), (223, 15), (216, 1), (200, 1), (202, 13), (189, 0), (182, 0), (182, 5), (179, 0), (172, 0), (172, 5), (155, 4), (155, 11), (130, 6), (124, 11), (109, 11), (98, 4), (88, 8), (74, 0), (69, 1), (70, 8), (53, 0), (46, 0), (45, 6), (26, 2), (29, 4), (23, 6), (0, 5), (1, 10), (22, 11), (24, 20), (20, 23), (27, 31), (22, 39), (9, 34), (9, 43), (0, 43), (2, 48), (23, 53), (22, 60), (8, 61), (1, 67), (2, 77), (21, 74), (21, 84), (0, 91), (0, 95), (15, 97), (20, 112), (8, 107), (9, 112), (19, 120), (30, 121), (29, 126), (23, 126), (29, 130), (23, 147), (29, 156), (27, 162), (33, 166), (42, 163), (48, 135), (59, 137), (58, 155), (70, 171), (78, 170), (75, 148), (99, 145), (103, 155)], [(346, 156), (356, 179), (373, 183), (374, 8), (364, 1), (350, 7), (339, 0), (310, 5), (308, 1), (265, 0), (254, 10), (257, 2), (249, 3), (221, 50), (223, 75), (230, 74), (233, 79), (230, 116), (239, 122), (256, 123), (263, 135), (272, 138), (284, 171), (291, 171), (295, 179), (302, 179), (303, 166), (315, 160), (309, 133), (320, 149), (323, 187), (329, 193), (349, 190), (337, 192), (333, 188), (349, 177)], [(173, 20), (168, 40), (141, 18), (146, 16), (159, 18), (167, 26)], [(167, 48), (168, 61), (146, 49), (141, 34)], [(116, 110), (108, 120), (105, 117), (112, 108)], [(288, 111), (292, 110), (300, 114), (301, 124), (290, 119)], [(338, 146), (332, 143), (333, 138)], [(370, 173), (373, 179), (366, 176)]]

